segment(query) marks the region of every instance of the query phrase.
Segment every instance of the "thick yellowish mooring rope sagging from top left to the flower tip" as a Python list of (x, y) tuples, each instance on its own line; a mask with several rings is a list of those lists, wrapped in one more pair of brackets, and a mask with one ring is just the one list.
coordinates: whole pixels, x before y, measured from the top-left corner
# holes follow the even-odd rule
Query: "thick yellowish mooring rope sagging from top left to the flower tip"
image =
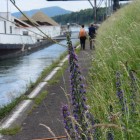
[(61, 44), (61, 43), (57, 42), (56, 40), (52, 39), (51, 37), (49, 37), (49, 36), (48, 36), (46, 33), (44, 33), (40, 28), (38, 28), (37, 25), (36, 25), (34, 22), (32, 22), (32, 21), (20, 10), (20, 8), (15, 4), (15, 2), (14, 2), (13, 0), (10, 0), (10, 1), (11, 1), (11, 3), (20, 11), (20, 13), (21, 13), (26, 19), (28, 19), (42, 34), (45, 35), (45, 37), (46, 37), (47, 39), (51, 40), (52, 42), (54, 42), (54, 43), (56, 43), (56, 44), (58, 44), (58, 45), (65, 46), (65, 47), (67, 46), (67, 45)]

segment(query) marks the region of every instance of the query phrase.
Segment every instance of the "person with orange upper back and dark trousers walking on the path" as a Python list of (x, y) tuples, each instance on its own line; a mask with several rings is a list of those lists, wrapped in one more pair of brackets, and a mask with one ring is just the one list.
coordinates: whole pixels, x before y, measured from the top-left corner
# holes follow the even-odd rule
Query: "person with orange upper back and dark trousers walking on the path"
[(84, 29), (84, 25), (82, 25), (82, 28), (80, 29), (80, 32), (79, 32), (79, 38), (80, 38), (80, 44), (81, 44), (82, 50), (85, 50), (86, 36), (87, 36), (87, 33)]

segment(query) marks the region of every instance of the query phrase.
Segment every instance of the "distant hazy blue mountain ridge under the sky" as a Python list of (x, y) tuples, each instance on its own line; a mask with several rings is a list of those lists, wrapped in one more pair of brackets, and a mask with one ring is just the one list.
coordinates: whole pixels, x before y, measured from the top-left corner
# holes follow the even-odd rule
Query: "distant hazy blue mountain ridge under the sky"
[[(30, 11), (23, 11), (23, 12), (27, 16), (31, 17), (35, 13), (37, 13), (38, 11), (43, 12), (44, 14), (46, 14), (49, 17), (54, 17), (54, 16), (57, 16), (57, 15), (64, 15), (64, 14), (70, 14), (72, 12), (72, 11), (60, 8), (58, 6), (46, 7), (46, 8), (41, 8), (41, 9), (33, 9), (33, 10), (30, 10)], [(12, 13), (12, 15), (19, 18), (19, 17), (21, 17), (22, 14), (20, 12), (15, 12), (15, 13)]]

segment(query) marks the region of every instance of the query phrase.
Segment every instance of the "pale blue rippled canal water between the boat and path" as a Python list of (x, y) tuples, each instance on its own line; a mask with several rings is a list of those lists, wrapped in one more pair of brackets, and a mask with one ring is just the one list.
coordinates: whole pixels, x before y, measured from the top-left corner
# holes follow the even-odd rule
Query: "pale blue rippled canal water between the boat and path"
[[(77, 33), (73, 36), (78, 36)], [(73, 45), (78, 39), (72, 39)], [(66, 40), (61, 44), (67, 44)], [(49, 67), (67, 47), (53, 44), (30, 55), (0, 62), (0, 107), (24, 94), (44, 68)]]

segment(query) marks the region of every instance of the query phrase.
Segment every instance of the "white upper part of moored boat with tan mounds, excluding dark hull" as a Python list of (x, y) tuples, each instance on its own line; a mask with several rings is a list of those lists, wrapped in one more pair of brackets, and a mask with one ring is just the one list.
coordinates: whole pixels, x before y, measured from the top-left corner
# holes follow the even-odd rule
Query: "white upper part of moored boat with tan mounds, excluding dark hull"
[(11, 13), (0, 12), (0, 44), (34, 44), (47, 36), (60, 35), (60, 25), (45, 14), (38, 12), (29, 19), (17, 19)]

